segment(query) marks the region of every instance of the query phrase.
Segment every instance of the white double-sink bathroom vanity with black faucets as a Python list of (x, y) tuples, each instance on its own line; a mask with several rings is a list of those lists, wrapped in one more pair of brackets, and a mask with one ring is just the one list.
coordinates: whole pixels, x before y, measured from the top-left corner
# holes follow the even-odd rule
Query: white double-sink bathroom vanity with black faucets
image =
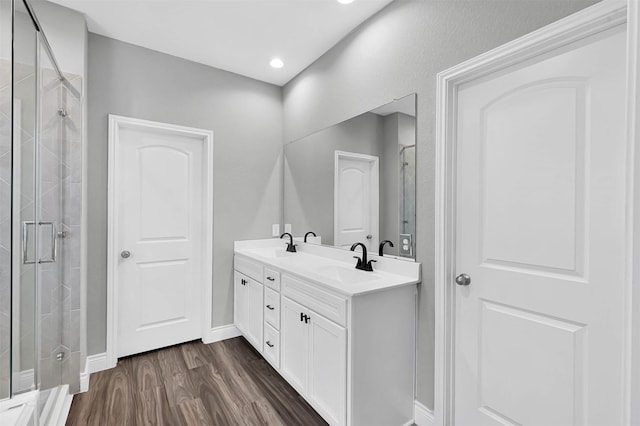
[(413, 424), (420, 264), (279, 239), (234, 247), (234, 322), (331, 425)]

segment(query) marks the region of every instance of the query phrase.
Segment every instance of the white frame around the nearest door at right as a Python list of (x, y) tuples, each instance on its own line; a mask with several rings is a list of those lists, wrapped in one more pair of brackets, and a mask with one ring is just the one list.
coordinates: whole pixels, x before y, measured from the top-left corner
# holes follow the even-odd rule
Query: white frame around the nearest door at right
[[(627, 192), (627, 273), (628, 294), (625, 354), (627, 383), (625, 384), (626, 424), (640, 422), (640, 407), (631, 401), (640, 398), (640, 366), (633, 364), (640, 356), (640, 77), (638, 0), (605, 0), (558, 22), (509, 42), (485, 54), (470, 59), (438, 74), (436, 129), (436, 247), (435, 247), (435, 425), (454, 422), (454, 330), (456, 271), (456, 115), (458, 87), (496, 71), (544, 55), (569, 43), (607, 29), (628, 24), (628, 192)], [(627, 12), (629, 17), (627, 18)], [(634, 174), (637, 170), (638, 173)], [(635, 259), (634, 259), (635, 257)], [(634, 283), (635, 282), (635, 283)], [(635, 311), (635, 315), (633, 315)], [(632, 329), (635, 335), (631, 333)]]

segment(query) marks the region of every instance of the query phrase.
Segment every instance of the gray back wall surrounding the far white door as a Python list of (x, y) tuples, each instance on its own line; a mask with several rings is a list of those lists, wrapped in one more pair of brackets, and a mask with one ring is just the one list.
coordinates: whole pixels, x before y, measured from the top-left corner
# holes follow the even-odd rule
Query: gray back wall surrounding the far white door
[(233, 241), (280, 223), (281, 88), (89, 35), (88, 352), (105, 351), (107, 115), (214, 132), (212, 326), (233, 322)]

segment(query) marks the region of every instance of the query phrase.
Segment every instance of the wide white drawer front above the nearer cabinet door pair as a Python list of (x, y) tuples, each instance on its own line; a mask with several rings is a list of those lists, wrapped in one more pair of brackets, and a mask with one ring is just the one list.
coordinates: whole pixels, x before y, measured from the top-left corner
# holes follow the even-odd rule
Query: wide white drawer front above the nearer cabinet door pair
[(347, 299), (343, 297), (287, 274), (282, 276), (282, 294), (331, 321), (347, 324)]

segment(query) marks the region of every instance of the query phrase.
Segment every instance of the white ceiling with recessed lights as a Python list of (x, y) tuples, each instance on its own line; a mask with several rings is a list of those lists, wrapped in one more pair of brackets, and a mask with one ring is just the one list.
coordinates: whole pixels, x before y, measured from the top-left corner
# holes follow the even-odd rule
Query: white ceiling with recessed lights
[(282, 86), (393, 0), (51, 1), (91, 32)]

